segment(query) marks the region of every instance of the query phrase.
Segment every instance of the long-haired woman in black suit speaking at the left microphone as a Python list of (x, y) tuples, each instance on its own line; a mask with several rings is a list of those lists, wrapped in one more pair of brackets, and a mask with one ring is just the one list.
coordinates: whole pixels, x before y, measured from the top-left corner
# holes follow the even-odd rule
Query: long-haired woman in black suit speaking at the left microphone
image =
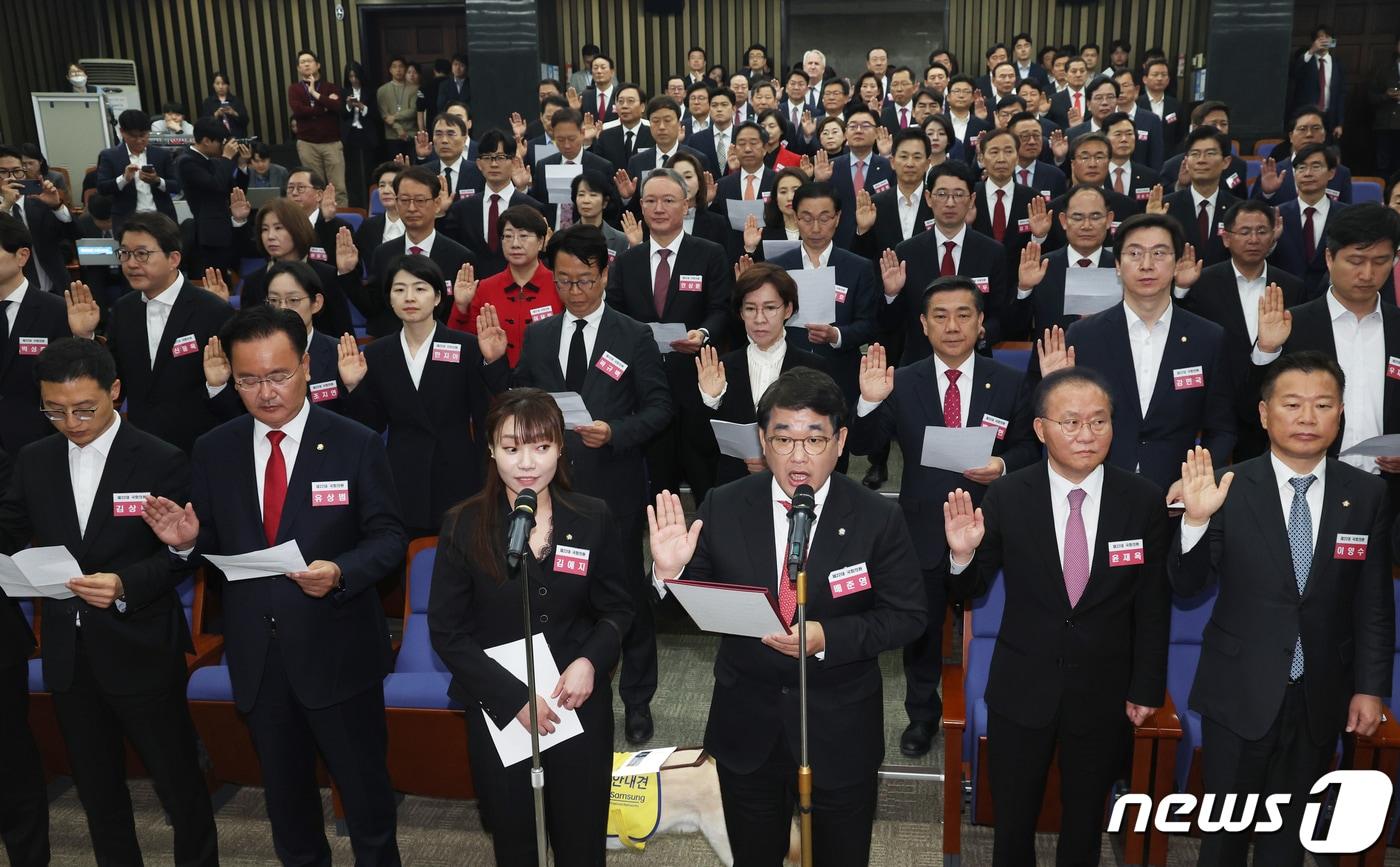
[(602, 867), (613, 748), (608, 675), (633, 616), (622, 539), (602, 500), (570, 490), (568, 462), (561, 459), (564, 419), (546, 392), (517, 388), (501, 395), (484, 430), (491, 450), (486, 483), (447, 513), (438, 538), (428, 594), (433, 648), (452, 672), (448, 695), (466, 707), (472, 780), (496, 863), (535, 866), (529, 762), (504, 768), (487, 728), (528, 730), (531, 696), (486, 648), (524, 637), (521, 588), (507, 580), (503, 539), (517, 496), (536, 492), (522, 567), (532, 633), (545, 636), (561, 672), (557, 682), (536, 684), (538, 730), (547, 745), (560, 721), (550, 705), (578, 713), (584, 728), (540, 754), (546, 828), (556, 864)]

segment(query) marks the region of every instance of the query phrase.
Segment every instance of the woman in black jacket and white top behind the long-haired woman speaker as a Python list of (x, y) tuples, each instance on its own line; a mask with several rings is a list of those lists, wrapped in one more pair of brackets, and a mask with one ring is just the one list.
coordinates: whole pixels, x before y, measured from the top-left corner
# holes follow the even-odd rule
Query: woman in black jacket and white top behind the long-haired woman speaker
[[(470, 290), (470, 270), (454, 293)], [(510, 377), (505, 331), (490, 304), (476, 336), (433, 318), (442, 301), (442, 270), (423, 255), (389, 265), (389, 308), (400, 328), (360, 352), (354, 336), (339, 347), (346, 415), (388, 433), (389, 468), (410, 536), (437, 534), (442, 513), (482, 487), (486, 410)]]

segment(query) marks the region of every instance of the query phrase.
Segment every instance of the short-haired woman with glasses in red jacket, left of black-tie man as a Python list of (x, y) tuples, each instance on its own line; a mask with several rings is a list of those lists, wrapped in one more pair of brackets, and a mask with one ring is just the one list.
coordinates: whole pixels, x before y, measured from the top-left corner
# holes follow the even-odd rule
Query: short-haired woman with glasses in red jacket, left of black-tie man
[(539, 261), (549, 224), (529, 204), (507, 207), (496, 221), (497, 244), (505, 256), (505, 270), (477, 282), (472, 266), (463, 266), (466, 280), (458, 280), (447, 326), (476, 333), (476, 318), (487, 304), (496, 307), (505, 329), (505, 357), (514, 368), (525, 343), (525, 326), (564, 311), (554, 289), (554, 275)]

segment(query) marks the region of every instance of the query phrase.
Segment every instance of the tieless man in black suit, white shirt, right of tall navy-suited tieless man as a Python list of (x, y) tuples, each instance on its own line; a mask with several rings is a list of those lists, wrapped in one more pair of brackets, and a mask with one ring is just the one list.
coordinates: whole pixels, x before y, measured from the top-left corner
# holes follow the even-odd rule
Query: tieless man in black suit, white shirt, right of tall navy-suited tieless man
[[(1303, 303), (1303, 284), (1267, 261), (1275, 234), (1274, 209), (1257, 199), (1236, 202), (1225, 214), (1229, 261), (1211, 265), (1180, 297), (1182, 305), (1225, 329), (1225, 352), (1235, 380), (1235, 461), (1268, 448), (1259, 426), (1259, 387), (1252, 381), (1249, 354), (1259, 336), (1259, 308), (1267, 287), (1277, 286), (1285, 307)], [(1180, 296), (1180, 289), (1177, 290)]]

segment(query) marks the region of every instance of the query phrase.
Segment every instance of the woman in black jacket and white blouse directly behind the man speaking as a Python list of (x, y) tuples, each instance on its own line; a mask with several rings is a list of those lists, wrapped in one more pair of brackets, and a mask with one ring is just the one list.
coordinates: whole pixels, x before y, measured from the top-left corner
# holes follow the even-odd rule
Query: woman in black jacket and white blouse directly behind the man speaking
[[(724, 356), (713, 346), (700, 350), (696, 357), (700, 401), (711, 419), (752, 424), (757, 422), (759, 398), (783, 371), (794, 367), (815, 367), (822, 373), (830, 370), (825, 359), (787, 340), (784, 324), (797, 312), (797, 283), (785, 270), (767, 263), (750, 265), (735, 279), (731, 297), (749, 345)], [(713, 430), (706, 438), (713, 450), (715, 486), (766, 469), (763, 458), (741, 461), (721, 455)], [(696, 494), (696, 501), (704, 499), (703, 493)]]

